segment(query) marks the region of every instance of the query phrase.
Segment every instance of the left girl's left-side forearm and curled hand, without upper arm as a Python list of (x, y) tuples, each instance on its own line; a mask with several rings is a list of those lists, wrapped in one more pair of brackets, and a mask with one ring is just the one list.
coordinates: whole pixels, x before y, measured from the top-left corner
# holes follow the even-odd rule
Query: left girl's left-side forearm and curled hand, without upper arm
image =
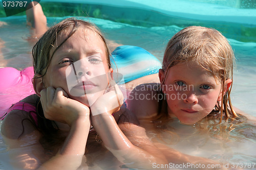
[(45, 117), (68, 124), (69, 134), (59, 152), (42, 167), (52, 169), (76, 169), (80, 166), (91, 127), (87, 106), (67, 98), (61, 88), (48, 87), (41, 91), (41, 103)]

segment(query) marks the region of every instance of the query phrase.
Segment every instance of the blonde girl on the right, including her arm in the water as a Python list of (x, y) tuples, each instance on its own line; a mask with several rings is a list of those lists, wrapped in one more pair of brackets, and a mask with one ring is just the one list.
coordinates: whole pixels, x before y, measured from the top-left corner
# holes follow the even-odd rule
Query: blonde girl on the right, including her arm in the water
[[(244, 116), (239, 116), (241, 111), (230, 101), (233, 62), (232, 48), (219, 31), (187, 27), (167, 44), (159, 70), (160, 84), (142, 84), (131, 92), (127, 108), (168, 162), (210, 164), (209, 160), (177, 153), (165, 144), (179, 142), (177, 133), (195, 132), (194, 128), (207, 134), (216, 132), (210, 126), (227, 120), (241, 123), (239, 119)], [(165, 139), (160, 139), (160, 134)], [(188, 140), (186, 145), (190, 142), (193, 143)]]

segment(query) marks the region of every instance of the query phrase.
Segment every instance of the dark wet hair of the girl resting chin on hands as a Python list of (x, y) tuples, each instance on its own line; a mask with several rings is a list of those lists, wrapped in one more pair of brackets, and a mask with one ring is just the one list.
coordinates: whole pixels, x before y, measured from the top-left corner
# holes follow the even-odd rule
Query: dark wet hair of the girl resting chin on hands
[[(95, 32), (102, 39), (105, 44), (106, 61), (108, 67), (112, 67), (110, 62), (111, 53), (100, 30), (90, 22), (76, 18), (67, 18), (51, 27), (44, 35), (40, 37), (40, 39), (34, 45), (32, 56), (35, 74), (39, 74), (41, 77), (45, 76), (55, 52), (78, 29), (89, 29)], [(61, 36), (65, 36), (66, 39), (64, 39), (62, 42), (57, 42)], [(52, 52), (53, 47), (55, 47), (55, 49)], [(54, 121), (45, 118), (39, 98), (37, 103), (37, 129), (43, 134), (43, 137), (40, 139), (40, 143), (44, 148), (54, 148), (56, 145), (59, 145), (59, 139), (65, 139), (65, 137), (63, 137), (61, 134), (58, 134), (59, 128)]]

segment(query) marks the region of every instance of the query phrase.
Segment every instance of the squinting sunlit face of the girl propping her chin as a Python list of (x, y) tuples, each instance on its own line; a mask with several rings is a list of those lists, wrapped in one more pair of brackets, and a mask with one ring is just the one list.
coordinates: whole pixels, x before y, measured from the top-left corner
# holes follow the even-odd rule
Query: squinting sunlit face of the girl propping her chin
[[(63, 33), (50, 54), (65, 38)], [(94, 31), (79, 28), (52, 56), (44, 84), (61, 87), (71, 99), (90, 107), (108, 86), (110, 72), (103, 40)]]

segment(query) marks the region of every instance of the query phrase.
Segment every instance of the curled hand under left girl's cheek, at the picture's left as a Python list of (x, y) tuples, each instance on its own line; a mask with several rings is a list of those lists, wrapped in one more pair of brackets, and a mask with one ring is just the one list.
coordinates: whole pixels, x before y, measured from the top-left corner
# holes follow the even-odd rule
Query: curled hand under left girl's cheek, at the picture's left
[(78, 118), (90, 118), (90, 109), (78, 101), (68, 98), (60, 87), (48, 87), (40, 92), (41, 104), (47, 119), (66, 123), (71, 126)]

